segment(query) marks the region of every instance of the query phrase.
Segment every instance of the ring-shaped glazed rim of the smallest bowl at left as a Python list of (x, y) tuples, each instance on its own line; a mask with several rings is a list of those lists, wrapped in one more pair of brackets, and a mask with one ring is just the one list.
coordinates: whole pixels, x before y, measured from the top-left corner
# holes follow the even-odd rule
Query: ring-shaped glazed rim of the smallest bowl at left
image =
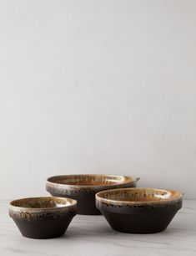
[[(71, 204), (68, 204), (68, 205), (63, 205), (62, 207), (18, 207), (18, 206), (14, 206), (13, 205), (13, 202), (18, 202), (18, 201), (23, 201), (23, 200), (33, 200), (33, 199), (52, 199), (53, 201), (55, 201), (56, 199), (58, 200), (61, 200), (61, 201), (64, 201), (64, 202), (70, 202)], [(68, 197), (24, 197), (24, 198), (18, 198), (18, 199), (15, 199), (15, 200), (12, 200), (9, 202), (9, 210), (15, 210), (15, 211), (28, 211), (28, 212), (31, 212), (31, 211), (55, 211), (55, 210), (59, 210), (59, 209), (65, 209), (65, 208), (68, 208), (68, 207), (73, 207), (73, 206), (76, 206), (77, 205), (77, 201), (74, 200), (73, 198), (68, 198)]]

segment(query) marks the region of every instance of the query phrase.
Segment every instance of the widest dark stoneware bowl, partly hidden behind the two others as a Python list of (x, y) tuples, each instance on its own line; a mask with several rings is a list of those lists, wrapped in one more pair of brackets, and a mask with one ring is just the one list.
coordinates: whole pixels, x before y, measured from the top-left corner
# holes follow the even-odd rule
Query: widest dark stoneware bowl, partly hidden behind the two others
[(136, 187), (138, 178), (113, 175), (64, 175), (49, 177), (46, 189), (53, 197), (71, 197), (78, 202), (77, 213), (101, 214), (95, 206), (97, 192), (120, 188)]

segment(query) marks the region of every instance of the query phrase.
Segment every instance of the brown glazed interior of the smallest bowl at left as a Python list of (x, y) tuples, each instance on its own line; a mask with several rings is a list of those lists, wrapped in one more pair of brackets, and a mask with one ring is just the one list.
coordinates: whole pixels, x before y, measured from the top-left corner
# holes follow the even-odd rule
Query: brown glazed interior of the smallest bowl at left
[(75, 200), (61, 197), (30, 197), (10, 202), (13, 207), (48, 209), (68, 207), (75, 204)]

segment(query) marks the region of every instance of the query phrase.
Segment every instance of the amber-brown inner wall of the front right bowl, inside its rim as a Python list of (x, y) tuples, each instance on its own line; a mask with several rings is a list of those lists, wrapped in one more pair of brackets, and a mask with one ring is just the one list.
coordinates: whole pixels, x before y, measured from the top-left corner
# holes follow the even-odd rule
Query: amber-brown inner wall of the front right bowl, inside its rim
[(120, 190), (113, 192), (102, 192), (100, 197), (114, 201), (127, 202), (149, 202), (149, 201), (164, 201), (174, 198), (174, 192), (151, 189), (133, 189)]

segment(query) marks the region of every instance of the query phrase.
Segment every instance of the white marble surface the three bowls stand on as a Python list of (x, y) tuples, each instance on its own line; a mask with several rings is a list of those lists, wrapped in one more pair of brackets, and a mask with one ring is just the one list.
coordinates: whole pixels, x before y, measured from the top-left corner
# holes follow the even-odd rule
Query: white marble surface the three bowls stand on
[(48, 240), (23, 238), (8, 217), (8, 201), (1, 200), (0, 255), (196, 255), (196, 200), (184, 201), (163, 233), (118, 233), (102, 216), (77, 216), (62, 238)]

